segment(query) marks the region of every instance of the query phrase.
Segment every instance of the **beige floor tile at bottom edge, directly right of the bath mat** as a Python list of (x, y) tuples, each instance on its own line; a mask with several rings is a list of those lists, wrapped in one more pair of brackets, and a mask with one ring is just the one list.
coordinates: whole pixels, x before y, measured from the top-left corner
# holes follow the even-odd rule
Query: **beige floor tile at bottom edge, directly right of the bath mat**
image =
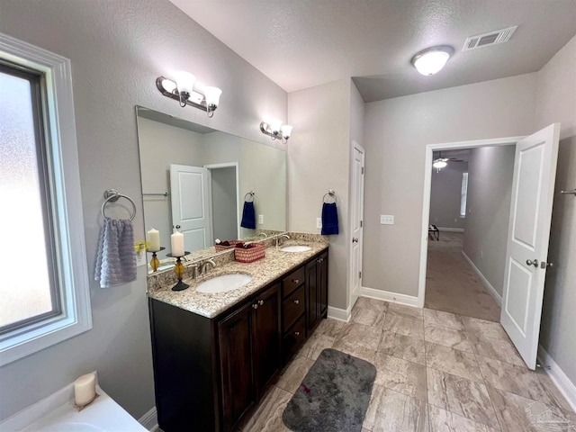
[(425, 432), (426, 402), (374, 385), (364, 428), (372, 432)]

